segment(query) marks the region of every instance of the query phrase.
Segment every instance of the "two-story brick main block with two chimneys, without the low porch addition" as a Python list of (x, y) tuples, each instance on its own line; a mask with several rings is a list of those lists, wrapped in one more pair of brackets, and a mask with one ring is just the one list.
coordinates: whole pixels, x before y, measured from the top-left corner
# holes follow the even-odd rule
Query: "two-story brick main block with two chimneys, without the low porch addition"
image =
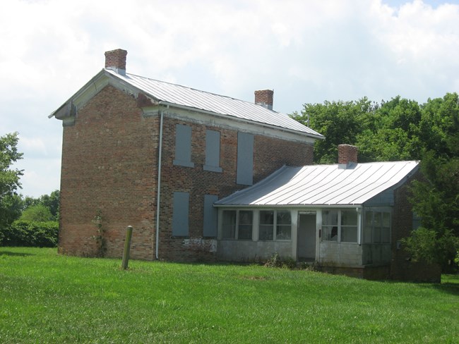
[[(133, 258), (214, 259), (213, 203), (281, 166), (312, 164), (323, 136), (255, 102), (126, 73), (121, 49), (51, 116), (63, 122), (59, 252), (120, 257), (133, 226)], [(51, 117), (50, 116), (50, 117)], [(95, 223), (95, 217), (101, 217)]]

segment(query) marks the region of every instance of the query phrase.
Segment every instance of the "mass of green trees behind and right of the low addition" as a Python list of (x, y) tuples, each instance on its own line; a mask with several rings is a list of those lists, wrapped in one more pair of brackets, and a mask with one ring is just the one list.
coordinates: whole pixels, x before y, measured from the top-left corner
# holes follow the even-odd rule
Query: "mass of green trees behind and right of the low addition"
[(314, 163), (335, 164), (338, 145), (359, 149), (359, 162), (418, 160), (423, 180), (412, 183), (413, 209), (422, 226), (404, 240), (413, 259), (458, 268), (459, 97), (419, 104), (400, 96), (388, 102), (366, 97), (350, 102), (304, 104), (290, 116), (326, 137)]

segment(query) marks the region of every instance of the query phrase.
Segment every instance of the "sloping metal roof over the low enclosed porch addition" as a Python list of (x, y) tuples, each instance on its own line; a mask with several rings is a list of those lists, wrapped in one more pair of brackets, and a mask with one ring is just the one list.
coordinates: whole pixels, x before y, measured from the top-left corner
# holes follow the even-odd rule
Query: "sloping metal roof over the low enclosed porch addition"
[(215, 202), (225, 205), (354, 205), (363, 204), (417, 171), (417, 161), (283, 166), (249, 188)]

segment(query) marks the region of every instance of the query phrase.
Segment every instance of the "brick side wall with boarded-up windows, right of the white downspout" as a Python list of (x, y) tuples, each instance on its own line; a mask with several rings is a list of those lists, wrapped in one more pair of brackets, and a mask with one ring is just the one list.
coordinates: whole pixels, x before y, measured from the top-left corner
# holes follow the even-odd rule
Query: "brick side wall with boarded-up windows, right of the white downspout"
[[(193, 168), (174, 166), (175, 126), (191, 126), (191, 161)], [(222, 172), (204, 171), (205, 130), (220, 132), (220, 167)], [(160, 219), (160, 259), (214, 259), (211, 240), (203, 239), (204, 195), (220, 198), (245, 188), (236, 184), (237, 130), (228, 130), (166, 118), (163, 128), (163, 159)], [(284, 164), (312, 164), (313, 147), (261, 135), (254, 136), (254, 183)], [(175, 191), (189, 192), (189, 237), (172, 236), (172, 202)]]

